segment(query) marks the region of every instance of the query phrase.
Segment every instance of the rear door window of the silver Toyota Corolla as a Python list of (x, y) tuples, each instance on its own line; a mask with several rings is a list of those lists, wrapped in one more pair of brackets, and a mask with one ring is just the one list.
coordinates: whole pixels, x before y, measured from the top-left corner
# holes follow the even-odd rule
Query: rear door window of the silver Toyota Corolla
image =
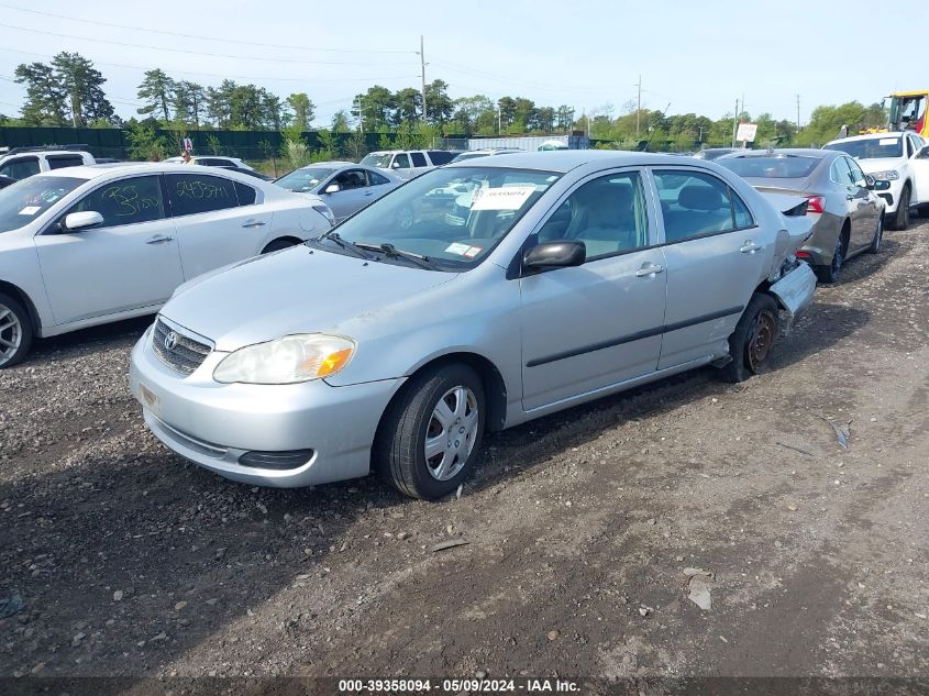
[(744, 201), (715, 176), (661, 169), (654, 177), (668, 244), (754, 224)]

